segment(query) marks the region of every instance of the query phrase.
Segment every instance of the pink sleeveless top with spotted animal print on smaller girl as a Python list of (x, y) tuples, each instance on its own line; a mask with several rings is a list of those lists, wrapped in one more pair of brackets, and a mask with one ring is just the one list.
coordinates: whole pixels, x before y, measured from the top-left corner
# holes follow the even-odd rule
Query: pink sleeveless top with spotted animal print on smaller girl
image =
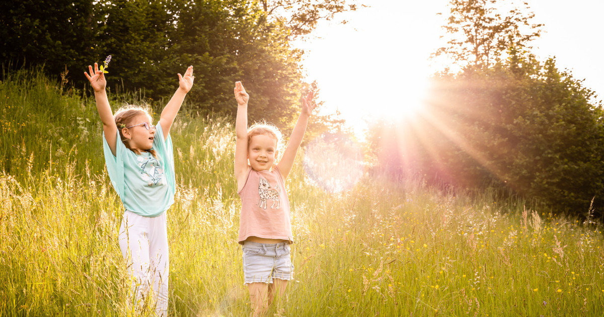
[(241, 191), (239, 243), (254, 236), (294, 242), (289, 217), (289, 199), (283, 176), (274, 165), (271, 171), (249, 169), (248, 179)]

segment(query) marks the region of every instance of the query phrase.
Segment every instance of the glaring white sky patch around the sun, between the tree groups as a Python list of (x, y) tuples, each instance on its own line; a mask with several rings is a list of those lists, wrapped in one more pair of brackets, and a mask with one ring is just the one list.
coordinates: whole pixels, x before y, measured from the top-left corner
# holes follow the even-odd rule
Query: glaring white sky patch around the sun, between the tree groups
[(357, 134), (377, 118), (416, 120), (435, 72), (429, 57), (441, 45), (436, 13), (447, 1), (438, 1), (375, 1), (350, 13), (349, 23), (325, 24), (312, 40), (294, 43), (320, 89), (319, 111), (341, 115)]

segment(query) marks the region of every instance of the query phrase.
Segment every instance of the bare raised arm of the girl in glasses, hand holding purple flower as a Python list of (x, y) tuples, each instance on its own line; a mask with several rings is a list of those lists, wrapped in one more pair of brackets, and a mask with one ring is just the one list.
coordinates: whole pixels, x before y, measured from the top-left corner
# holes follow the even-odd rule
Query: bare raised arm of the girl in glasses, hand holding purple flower
[(101, 117), (101, 121), (103, 122), (103, 132), (105, 135), (105, 139), (109, 144), (109, 149), (111, 149), (111, 153), (115, 156), (115, 142), (117, 141), (117, 126), (115, 126), (115, 120), (113, 117), (113, 112), (111, 112), (111, 106), (109, 106), (109, 100), (107, 99), (107, 92), (105, 91), (105, 86), (107, 86), (107, 81), (105, 80), (105, 75), (103, 71), (98, 69), (97, 63), (94, 63), (94, 72), (92, 71), (92, 66), (88, 65), (88, 72), (84, 72), (86, 78), (90, 81), (90, 85), (92, 89), (94, 89), (94, 98), (97, 101), (97, 110), (98, 116)]

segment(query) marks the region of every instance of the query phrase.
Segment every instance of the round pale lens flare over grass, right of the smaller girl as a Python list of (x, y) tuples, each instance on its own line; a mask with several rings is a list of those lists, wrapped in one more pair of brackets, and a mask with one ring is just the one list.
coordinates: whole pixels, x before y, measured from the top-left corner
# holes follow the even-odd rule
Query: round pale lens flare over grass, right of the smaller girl
[(303, 159), (307, 178), (330, 193), (352, 188), (363, 176), (361, 149), (342, 133), (323, 133), (305, 149)]

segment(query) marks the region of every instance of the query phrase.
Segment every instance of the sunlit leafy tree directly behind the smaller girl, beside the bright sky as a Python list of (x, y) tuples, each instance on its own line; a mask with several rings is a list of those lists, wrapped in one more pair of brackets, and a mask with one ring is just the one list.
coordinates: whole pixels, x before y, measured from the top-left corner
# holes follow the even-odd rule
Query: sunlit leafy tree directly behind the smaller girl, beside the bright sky
[(191, 100), (199, 109), (234, 117), (234, 82), (242, 80), (251, 97), (250, 120), (266, 118), (280, 127), (294, 121), (301, 53), (255, 2), (197, 2), (179, 16), (173, 64), (195, 65), (199, 77)]

